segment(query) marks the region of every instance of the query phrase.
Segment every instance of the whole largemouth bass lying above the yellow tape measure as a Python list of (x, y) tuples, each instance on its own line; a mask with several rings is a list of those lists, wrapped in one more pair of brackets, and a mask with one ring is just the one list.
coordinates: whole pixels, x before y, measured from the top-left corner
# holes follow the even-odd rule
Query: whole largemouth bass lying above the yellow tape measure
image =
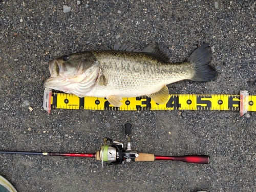
[(177, 63), (170, 63), (156, 45), (139, 51), (116, 44), (114, 50), (78, 52), (50, 61), (51, 77), (44, 87), (78, 97), (105, 97), (114, 106), (122, 104), (122, 97), (143, 95), (164, 104), (169, 94), (166, 84), (215, 79), (217, 73), (208, 65), (210, 60), (208, 44), (196, 49), (186, 62)]

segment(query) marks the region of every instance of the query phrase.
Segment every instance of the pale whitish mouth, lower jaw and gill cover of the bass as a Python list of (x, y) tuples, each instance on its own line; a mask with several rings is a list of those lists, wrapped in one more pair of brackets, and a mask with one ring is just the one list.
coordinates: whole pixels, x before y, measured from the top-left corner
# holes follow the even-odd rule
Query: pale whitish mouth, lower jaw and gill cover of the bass
[(100, 76), (100, 68), (95, 65), (85, 72), (79, 70), (76, 75), (67, 77), (63, 73), (64, 63), (60, 63), (56, 59), (49, 62), (49, 70), (51, 76), (44, 82), (45, 88), (71, 93), (79, 97), (84, 97), (87, 92), (91, 91)]

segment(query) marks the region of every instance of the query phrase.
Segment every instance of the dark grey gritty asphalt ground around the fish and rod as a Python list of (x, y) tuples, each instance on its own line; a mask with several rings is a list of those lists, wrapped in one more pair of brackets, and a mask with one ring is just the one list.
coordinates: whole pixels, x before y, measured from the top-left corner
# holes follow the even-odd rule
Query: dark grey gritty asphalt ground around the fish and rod
[[(207, 42), (215, 81), (170, 94), (256, 94), (255, 1), (0, 1), (0, 150), (95, 153), (109, 137), (156, 155), (209, 155), (105, 166), (90, 158), (0, 154), (17, 191), (256, 191), (255, 112), (83, 111), (42, 108), (48, 62), (67, 53), (158, 44), (173, 62)], [(33, 111), (29, 110), (29, 107)], [(182, 115), (183, 113), (183, 115)]]

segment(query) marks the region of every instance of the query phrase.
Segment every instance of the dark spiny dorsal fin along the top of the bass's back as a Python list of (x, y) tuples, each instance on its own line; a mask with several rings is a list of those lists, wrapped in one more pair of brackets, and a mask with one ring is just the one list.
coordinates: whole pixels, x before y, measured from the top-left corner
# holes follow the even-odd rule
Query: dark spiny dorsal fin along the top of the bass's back
[(166, 49), (163, 46), (153, 44), (145, 47), (142, 50), (135, 49), (132, 46), (127, 46), (126, 44), (121, 45), (119, 42), (114, 45), (114, 50), (117, 51), (129, 51), (129, 52), (137, 52), (137, 53), (146, 53), (148, 55), (152, 55), (156, 57), (158, 60), (162, 62), (169, 62), (169, 57)]

